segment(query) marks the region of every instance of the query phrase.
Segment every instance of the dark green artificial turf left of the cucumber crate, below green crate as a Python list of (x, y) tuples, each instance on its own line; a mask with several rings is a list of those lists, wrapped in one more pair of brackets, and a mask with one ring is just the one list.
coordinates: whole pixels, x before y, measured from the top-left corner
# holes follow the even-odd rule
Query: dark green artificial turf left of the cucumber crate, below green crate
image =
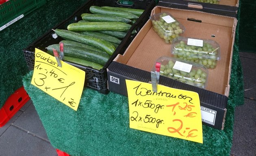
[(0, 32), (0, 108), (22, 87), (22, 76), (28, 72), (22, 49), (72, 15), (85, 2), (50, 0)]

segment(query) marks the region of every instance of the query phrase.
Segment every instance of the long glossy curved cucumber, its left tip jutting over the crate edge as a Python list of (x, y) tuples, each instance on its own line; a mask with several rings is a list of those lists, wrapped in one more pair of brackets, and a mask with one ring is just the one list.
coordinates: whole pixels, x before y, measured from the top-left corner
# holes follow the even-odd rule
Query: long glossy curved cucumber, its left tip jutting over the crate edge
[(93, 47), (103, 50), (104, 52), (107, 52), (110, 55), (112, 55), (113, 52), (115, 52), (115, 46), (104, 39), (91, 37), (88, 35), (80, 34), (78, 32), (72, 32), (64, 29), (55, 29), (54, 32), (63, 39), (91, 45)]

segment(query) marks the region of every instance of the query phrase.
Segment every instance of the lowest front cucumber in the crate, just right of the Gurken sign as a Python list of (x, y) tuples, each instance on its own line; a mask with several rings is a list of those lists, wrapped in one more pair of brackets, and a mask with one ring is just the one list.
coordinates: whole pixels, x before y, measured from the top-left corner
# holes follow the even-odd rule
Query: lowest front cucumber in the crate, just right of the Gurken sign
[(73, 62), (73, 63), (76, 63), (76, 64), (79, 64), (79, 65), (84, 65), (84, 66), (92, 67), (92, 68), (98, 69), (98, 70), (103, 68), (103, 65), (100, 65), (100, 64), (92, 62), (92, 61), (84, 60), (84, 59), (81, 59), (81, 58), (65, 56), (64, 60), (65, 61), (69, 61), (69, 62)]

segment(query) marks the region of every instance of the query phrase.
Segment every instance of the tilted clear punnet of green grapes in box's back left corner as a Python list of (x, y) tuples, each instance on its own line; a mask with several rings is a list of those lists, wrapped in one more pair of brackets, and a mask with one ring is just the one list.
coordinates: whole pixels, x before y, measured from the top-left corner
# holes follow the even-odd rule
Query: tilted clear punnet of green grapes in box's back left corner
[(154, 31), (165, 43), (172, 43), (172, 40), (180, 36), (185, 28), (170, 13), (157, 13), (150, 16)]

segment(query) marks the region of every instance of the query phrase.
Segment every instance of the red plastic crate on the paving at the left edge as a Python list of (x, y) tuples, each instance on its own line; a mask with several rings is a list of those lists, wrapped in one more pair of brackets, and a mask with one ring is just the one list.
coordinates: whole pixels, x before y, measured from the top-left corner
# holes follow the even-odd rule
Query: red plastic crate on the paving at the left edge
[(0, 127), (4, 126), (28, 100), (30, 98), (24, 87), (20, 87), (10, 95), (4, 106), (0, 109)]

